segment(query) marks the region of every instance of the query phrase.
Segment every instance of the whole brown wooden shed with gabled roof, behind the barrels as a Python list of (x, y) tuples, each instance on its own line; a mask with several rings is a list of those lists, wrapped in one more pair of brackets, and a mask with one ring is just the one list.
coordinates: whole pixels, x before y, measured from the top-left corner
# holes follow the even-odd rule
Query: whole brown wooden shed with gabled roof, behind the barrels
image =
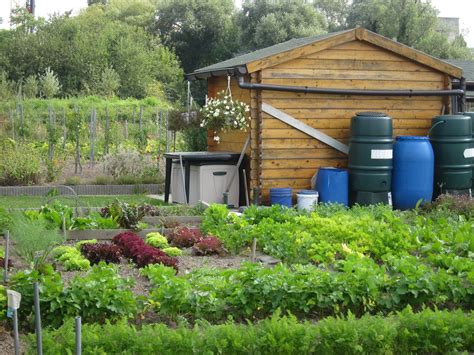
[[(240, 152), (250, 133), (250, 190), (310, 188), (318, 168), (347, 166), (351, 117), (378, 111), (394, 135), (426, 135), (433, 116), (462, 102), (462, 70), (363, 28), (293, 39), (188, 74), (209, 97), (225, 90), (251, 107), (250, 132), (220, 134), (209, 151)], [(452, 100), (454, 98), (455, 100)]]

